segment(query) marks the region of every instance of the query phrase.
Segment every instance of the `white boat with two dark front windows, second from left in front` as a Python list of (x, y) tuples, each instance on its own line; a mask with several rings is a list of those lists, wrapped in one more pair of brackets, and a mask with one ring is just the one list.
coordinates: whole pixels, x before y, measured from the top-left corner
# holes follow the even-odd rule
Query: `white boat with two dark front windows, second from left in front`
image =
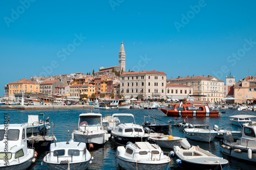
[(92, 156), (83, 142), (55, 142), (42, 160), (49, 169), (87, 169)]

